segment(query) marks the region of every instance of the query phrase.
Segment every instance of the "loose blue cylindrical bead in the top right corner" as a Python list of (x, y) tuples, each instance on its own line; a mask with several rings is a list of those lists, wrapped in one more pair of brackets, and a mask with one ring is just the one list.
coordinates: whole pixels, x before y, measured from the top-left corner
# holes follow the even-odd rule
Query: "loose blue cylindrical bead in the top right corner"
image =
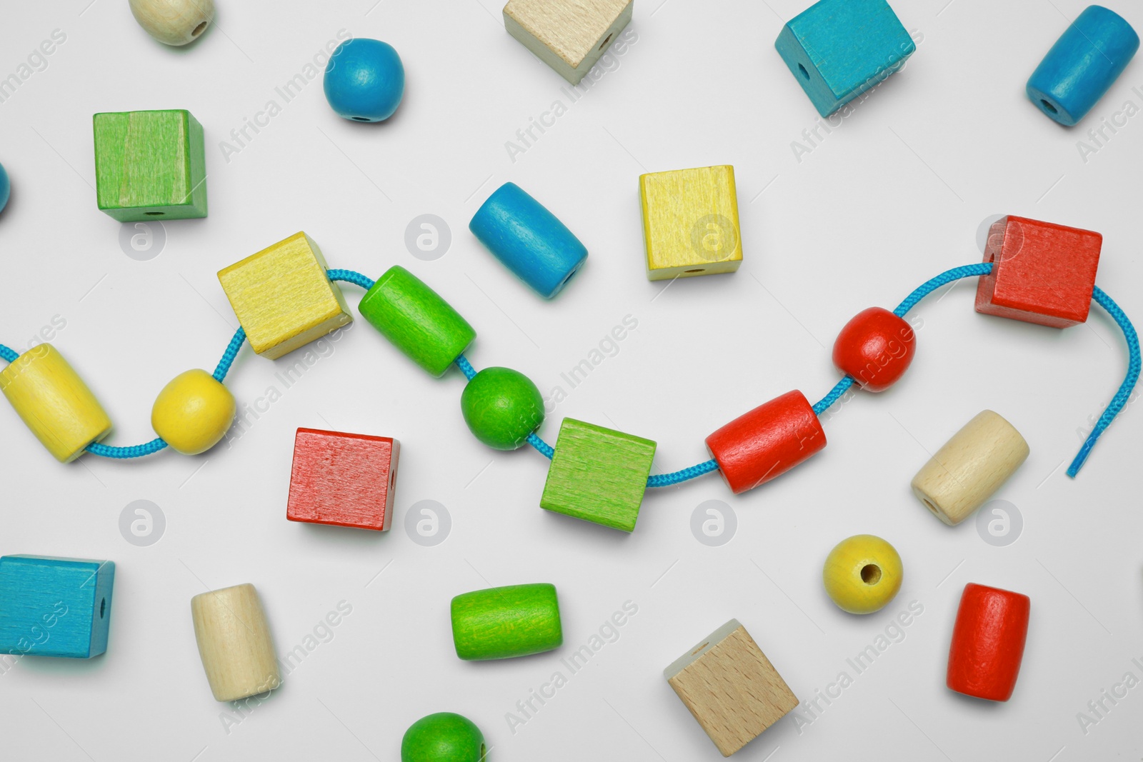
[(1121, 16), (1088, 6), (1036, 67), (1028, 97), (1071, 127), (1111, 88), (1138, 47), (1138, 34)]

